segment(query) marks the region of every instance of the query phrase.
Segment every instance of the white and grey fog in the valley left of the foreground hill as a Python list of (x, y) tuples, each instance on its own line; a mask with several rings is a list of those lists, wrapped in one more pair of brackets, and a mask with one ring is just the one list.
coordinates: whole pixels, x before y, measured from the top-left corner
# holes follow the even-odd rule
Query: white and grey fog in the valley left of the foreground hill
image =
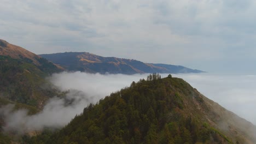
[(44, 127), (61, 128), (75, 115), (82, 113), (90, 103), (95, 104), (106, 95), (130, 86), (132, 81), (138, 81), (146, 76), (80, 72), (54, 74), (48, 79), (62, 91), (68, 91), (65, 97), (49, 99), (43, 110), (32, 116), (27, 115), (27, 110), (13, 112), (14, 105), (1, 107), (0, 113), (6, 123), (3, 129), (23, 134), (31, 130), (42, 130)]

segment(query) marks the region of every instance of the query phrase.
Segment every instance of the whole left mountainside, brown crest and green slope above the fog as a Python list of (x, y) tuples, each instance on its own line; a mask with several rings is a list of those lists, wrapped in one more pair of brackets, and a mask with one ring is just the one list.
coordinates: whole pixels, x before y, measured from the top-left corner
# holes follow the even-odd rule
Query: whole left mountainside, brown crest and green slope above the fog
[(44, 78), (62, 70), (45, 58), (0, 40), (0, 97), (40, 109), (54, 95)]

